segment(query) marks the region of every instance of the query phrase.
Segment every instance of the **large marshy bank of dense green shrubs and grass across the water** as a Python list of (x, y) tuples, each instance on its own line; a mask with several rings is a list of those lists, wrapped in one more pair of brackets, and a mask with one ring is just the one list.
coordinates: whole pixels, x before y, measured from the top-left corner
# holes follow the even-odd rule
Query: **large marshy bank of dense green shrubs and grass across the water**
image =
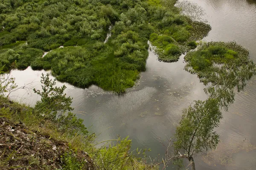
[[(145, 71), (148, 40), (159, 59), (177, 61), (210, 26), (180, 15), (176, 0), (3, 0), (0, 64), (4, 70), (51, 69), (80, 88), (124, 93)], [(109, 29), (111, 28), (111, 29)], [(111, 33), (105, 43), (107, 34)], [(59, 49), (61, 45), (64, 48)], [(52, 51), (50, 51), (52, 50)], [(41, 58), (43, 51), (50, 51)]]

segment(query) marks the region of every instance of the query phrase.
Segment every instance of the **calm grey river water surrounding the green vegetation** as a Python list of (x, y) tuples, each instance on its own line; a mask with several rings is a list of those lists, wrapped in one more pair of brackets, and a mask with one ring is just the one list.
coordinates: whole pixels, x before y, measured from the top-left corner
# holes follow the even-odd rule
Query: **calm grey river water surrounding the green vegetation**
[[(205, 10), (205, 17), (212, 30), (205, 41), (233, 41), (250, 51), (256, 62), (256, 1), (254, 0), (192, 0)], [(151, 156), (163, 156), (166, 136), (175, 133), (182, 110), (193, 100), (204, 100), (204, 85), (195, 75), (183, 70), (183, 56), (178, 62), (159, 62), (149, 50), (147, 71), (141, 74), (137, 85), (128, 89), (124, 96), (91, 86), (74, 88), (67, 83), (67, 95), (73, 97), (74, 112), (90, 132), (103, 141), (130, 136), (133, 149), (151, 148)], [(19, 86), (26, 83), (40, 89), (40, 76), (45, 71), (12, 71)], [(34, 105), (39, 97), (29, 90), (11, 94), (12, 99)], [(254, 170), (256, 169), (256, 77), (243, 92), (237, 93), (236, 101), (216, 130), (220, 144), (208, 156), (195, 158), (198, 170)], [(186, 161), (185, 161), (186, 162)], [(172, 169), (170, 166), (169, 169)]]

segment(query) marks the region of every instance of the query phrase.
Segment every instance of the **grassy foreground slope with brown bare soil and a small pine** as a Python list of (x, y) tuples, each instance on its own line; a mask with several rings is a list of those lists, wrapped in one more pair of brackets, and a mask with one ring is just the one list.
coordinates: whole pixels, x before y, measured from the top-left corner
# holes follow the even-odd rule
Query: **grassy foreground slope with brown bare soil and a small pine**
[[(82, 119), (70, 111), (65, 86), (55, 87), (42, 75), (35, 107), (10, 101), (4, 94), (17, 89), (14, 79), (0, 74), (0, 169), (154, 170), (145, 150), (131, 150), (128, 137), (96, 143)], [(150, 161), (149, 161), (150, 162)]]

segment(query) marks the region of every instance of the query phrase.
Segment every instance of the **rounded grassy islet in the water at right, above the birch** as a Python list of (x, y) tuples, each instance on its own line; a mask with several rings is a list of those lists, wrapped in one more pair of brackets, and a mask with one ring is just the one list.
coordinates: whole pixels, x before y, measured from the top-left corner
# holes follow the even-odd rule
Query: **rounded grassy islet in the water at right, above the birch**
[(256, 67), (249, 59), (249, 52), (236, 42), (204, 43), (197, 51), (186, 54), (185, 61), (185, 69), (198, 74), (205, 85), (209, 82), (213, 85), (223, 85), (225, 82), (222, 81), (222, 77), (225, 76), (230, 77), (230, 81), (234, 79), (232, 82), (237, 83), (239, 90), (244, 87), (245, 80), (256, 74)]

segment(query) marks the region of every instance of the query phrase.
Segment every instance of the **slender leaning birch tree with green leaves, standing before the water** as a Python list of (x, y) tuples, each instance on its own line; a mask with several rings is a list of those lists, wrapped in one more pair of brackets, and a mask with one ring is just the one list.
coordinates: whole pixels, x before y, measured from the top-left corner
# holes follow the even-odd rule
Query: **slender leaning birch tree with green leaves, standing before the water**
[[(209, 98), (195, 101), (193, 106), (183, 111), (175, 133), (174, 147), (183, 158), (195, 165), (192, 156), (215, 149), (219, 135), (214, 131), (218, 127), (222, 114), (218, 99)], [(193, 169), (193, 168), (192, 168)]]

